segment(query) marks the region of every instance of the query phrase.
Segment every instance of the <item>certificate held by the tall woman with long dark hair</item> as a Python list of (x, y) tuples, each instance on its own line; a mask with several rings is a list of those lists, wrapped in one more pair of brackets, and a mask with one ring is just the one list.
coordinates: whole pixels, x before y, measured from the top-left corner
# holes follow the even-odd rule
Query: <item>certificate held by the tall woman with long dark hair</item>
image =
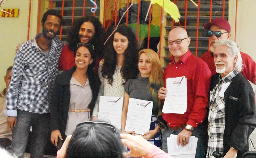
[(108, 119), (117, 129), (121, 129), (123, 97), (100, 96), (98, 119)]

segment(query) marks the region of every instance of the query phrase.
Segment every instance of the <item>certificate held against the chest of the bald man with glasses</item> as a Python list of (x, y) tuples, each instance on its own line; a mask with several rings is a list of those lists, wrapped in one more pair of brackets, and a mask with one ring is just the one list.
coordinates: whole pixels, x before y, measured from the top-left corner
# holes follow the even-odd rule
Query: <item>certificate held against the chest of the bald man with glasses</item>
[(187, 78), (167, 78), (166, 89), (168, 92), (162, 112), (184, 114), (187, 111)]

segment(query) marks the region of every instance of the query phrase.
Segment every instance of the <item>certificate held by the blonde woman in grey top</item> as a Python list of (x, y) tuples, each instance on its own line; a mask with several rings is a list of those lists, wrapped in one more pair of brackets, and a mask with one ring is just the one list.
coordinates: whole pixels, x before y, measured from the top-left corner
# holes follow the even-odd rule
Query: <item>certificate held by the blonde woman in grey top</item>
[(153, 101), (129, 99), (125, 131), (142, 134), (150, 129)]

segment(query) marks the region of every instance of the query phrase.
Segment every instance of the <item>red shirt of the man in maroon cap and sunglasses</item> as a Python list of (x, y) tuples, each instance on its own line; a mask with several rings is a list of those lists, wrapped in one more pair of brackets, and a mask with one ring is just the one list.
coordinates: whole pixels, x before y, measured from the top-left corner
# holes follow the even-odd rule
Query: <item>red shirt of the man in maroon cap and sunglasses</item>
[[(241, 74), (249, 81), (255, 84), (256, 82), (256, 63), (254, 60), (246, 53), (241, 52), (241, 57), (243, 60), (243, 70)], [(214, 57), (211, 51), (204, 52), (201, 56), (201, 59), (207, 63), (209, 66), (212, 75), (216, 74), (216, 67), (214, 65)]]

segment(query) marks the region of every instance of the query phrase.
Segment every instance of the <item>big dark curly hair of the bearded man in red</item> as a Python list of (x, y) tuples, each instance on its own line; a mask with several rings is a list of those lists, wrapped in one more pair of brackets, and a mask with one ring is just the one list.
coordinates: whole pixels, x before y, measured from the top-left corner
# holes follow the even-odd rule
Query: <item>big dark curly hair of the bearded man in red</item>
[(95, 51), (98, 53), (97, 56), (102, 58), (103, 56), (102, 48), (103, 48), (104, 39), (105, 39), (105, 32), (102, 28), (100, 20), (94, 16), (84, 16), (74, 21), (73, 25), (71, 26), (68, 32), (67, 41), (68, 41), (69, 49), (76, 52), (77, 44), (81, 43), (80, 37), (79, 37), (80, 27), (84, 22), (87, 22), (87, 21), (93, 23), (93, 26), (95, 28), (95, 34), (93, 36), (93, 39), (91, 39), (91, 41), (89, 41), (88, 43), (95, 46)]

